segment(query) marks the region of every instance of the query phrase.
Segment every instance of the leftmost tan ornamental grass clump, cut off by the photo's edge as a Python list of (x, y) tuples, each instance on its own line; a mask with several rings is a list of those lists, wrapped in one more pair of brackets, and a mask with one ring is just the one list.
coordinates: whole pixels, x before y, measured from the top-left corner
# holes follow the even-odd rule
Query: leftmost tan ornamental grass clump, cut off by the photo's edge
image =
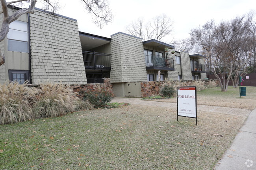
[(0, 124), (11, 124), (32, 119), (31, 105), (38, 93), (36, 88), (19, 82), (0, 84)]

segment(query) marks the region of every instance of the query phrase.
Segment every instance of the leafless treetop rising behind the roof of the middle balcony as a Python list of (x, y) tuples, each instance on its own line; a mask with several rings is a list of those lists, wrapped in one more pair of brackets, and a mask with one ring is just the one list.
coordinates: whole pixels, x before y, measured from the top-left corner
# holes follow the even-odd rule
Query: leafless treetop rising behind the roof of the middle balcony
[(173, 21), (165, 14), (156, 16), (144, 22), (143, 18), (138, 18), (135, 22), (126, 26), (126, 31), (131, 35), (145, 39), (155, 38), (161, 40), (172, 31)]

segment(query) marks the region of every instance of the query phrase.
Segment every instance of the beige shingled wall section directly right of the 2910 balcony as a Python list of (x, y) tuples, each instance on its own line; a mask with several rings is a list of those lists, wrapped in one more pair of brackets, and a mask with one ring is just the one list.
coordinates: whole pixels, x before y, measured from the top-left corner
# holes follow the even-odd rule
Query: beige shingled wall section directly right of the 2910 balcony
[(111, 83), (147, 81), (141, 38), (124, 33), (111, 38)]

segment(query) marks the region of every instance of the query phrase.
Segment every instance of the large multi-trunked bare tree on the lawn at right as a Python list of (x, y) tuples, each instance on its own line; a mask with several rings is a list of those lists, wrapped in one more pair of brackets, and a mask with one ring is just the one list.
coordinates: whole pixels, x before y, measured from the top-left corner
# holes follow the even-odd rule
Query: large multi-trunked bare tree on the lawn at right
[(211, 20), (202, 28), (191, 30), (191, 41), (202, 48), (202, 53), (206, 55), (206, 66), (219, 81), (221, 91), (227, 91), (229, 80), (232, 77), (238, 80), (239, 71), (247, 66), (252, 49), (248, 28), (249, 22), (241, 16), (217, 26)]

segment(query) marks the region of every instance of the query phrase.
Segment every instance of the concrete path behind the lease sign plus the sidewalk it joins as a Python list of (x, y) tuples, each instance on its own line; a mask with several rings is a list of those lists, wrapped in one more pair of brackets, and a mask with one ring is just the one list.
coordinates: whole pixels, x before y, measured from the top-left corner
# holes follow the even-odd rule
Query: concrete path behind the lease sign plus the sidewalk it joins
[[(111, 102), (127, 102), (130, 104), (167, 108), (177, 107), (176, 103), (144, 101), (140, 98), (114, 98)], [(215, 170), (256, 170), (256, 109), (251, 112), (250, 110), (238, 108), (197, 105), (197, 110), (223, 112), (231, 115), (247, 112), (249, 117), (236, 135), (230, 148), (228, 148), (223, 158), (217, 163)]]

